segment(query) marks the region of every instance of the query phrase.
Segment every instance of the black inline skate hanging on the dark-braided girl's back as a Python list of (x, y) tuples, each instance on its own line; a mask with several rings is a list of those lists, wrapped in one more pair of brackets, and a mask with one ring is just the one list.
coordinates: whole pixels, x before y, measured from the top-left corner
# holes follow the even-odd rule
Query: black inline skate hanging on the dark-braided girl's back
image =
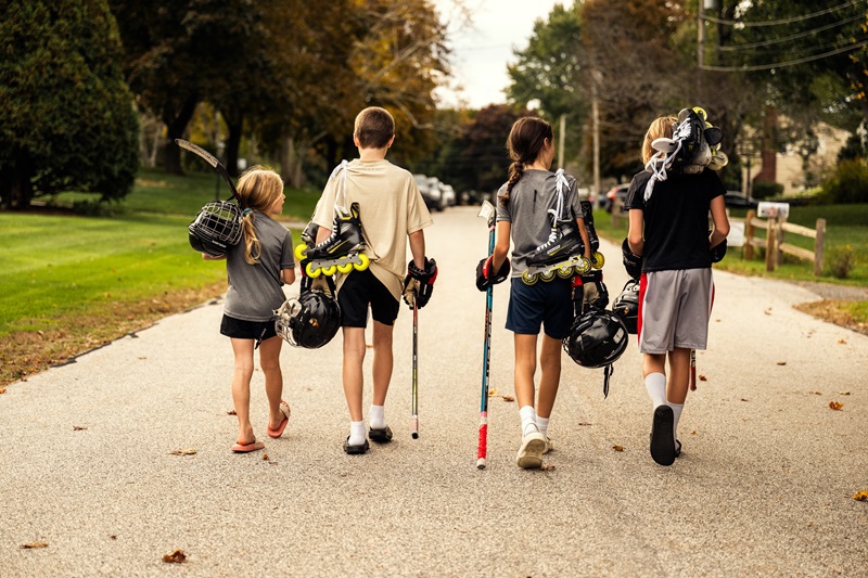
[(591, 268), (590, 261), (585, 258), (585, 244), (575, 221), (559, 221), (553, 210), (549, 209), (549, 213), (552, 220), (551, 234), (528, 257), (527, 269), (522, 272), (525, 285), (533, 285), (539, 279), (551, 281), (556, 274), (561, 279), (569, 279), (574, 274), (584, 274)]

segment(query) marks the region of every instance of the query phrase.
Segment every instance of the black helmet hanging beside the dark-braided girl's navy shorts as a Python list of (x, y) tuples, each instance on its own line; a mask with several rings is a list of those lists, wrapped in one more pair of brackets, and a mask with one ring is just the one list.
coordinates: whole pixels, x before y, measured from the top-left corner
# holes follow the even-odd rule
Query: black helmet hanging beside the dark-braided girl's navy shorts
[(627, 327), (620, 316), (592, 307), (573, 321), (563, 348), (583, 368), (610, 365), (627, 348)]

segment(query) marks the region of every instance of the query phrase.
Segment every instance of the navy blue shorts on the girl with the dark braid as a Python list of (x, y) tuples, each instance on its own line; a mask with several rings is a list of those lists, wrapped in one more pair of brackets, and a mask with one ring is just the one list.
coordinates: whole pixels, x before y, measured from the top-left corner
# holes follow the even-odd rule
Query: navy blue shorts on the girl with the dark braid
[(573, 283), (556, 277), (525, 285), (518, 277), (511, 279), (507, 329), (525, 335), (539, 335), (539, 327), (553, 339), (563, 339), (573, 324)]

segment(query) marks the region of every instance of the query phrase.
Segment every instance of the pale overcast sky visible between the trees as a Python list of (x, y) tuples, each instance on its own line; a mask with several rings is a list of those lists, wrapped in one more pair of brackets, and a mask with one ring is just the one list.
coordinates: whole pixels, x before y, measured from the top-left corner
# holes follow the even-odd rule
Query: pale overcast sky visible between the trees
[(534, 22), (548, 18), (554, 4), (571, 5), (572, 0), (464, 0), (473, 18), (469, 27), (457, 26), (457, 18), (450, 17), (454, 0), (435, 0), (434, 4), (443, 20), (451, 23), (452, 73), (463, 88), (459, 93), (438, 90), (437, 97), (447, 106), (463, 101), (471, 108), (481, 108), (506, 101), (507, 64), (515, 62), (513, 48), (527, 48)]

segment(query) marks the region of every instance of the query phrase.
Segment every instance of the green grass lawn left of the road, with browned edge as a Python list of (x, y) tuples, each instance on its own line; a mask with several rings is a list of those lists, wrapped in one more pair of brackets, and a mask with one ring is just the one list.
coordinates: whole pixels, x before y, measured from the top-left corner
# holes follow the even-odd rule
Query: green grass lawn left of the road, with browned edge
[[(142, 170), (127, 198), (100, 216), (0, 213), (0, 385), (226, 291), (225, 264), (202, 260), (187, 239), (216, 189), (214, 175)], [(222, 182), (219, 193), (228, 195)], [(53, 203), (89, 198), (65, 193)], [(318, 198), (288, 189), (282, 218), (306, 222)]]

